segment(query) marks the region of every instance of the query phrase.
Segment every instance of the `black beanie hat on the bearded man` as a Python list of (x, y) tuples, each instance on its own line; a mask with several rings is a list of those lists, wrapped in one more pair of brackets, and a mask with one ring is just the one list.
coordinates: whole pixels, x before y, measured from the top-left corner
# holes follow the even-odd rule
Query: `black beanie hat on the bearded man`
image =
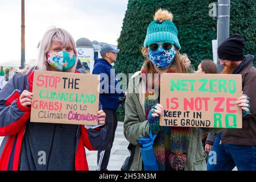
[(218, 58), (230, 61), (241, 61), (243, 60), (244, 48), (243, 37), (238, 34), (232, 35), (218, 46)]

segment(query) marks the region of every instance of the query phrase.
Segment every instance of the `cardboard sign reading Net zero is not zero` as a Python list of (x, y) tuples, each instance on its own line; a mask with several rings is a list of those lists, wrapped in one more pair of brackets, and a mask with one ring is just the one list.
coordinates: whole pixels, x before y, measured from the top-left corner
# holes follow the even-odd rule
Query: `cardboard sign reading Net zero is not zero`
[(241, 75), (164, 73), (161, 126), (242, 128)]

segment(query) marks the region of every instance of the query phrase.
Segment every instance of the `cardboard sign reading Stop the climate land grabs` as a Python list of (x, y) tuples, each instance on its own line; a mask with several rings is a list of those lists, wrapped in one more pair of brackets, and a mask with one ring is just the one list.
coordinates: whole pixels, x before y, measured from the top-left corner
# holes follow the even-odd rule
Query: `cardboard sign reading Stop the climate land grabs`
[(35, 71), (31, 122), (97, 125), (98, 76)]

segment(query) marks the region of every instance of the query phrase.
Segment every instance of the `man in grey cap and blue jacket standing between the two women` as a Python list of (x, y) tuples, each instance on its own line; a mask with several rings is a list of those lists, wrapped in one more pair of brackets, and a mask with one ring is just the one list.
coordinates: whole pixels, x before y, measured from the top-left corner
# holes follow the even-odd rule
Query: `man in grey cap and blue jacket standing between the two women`
[[(101, 84), (106, 83), (101, 86), (100, 102), (102, 104), (102, 109), (106, 113), (107, 137), (102, 150), (98, 151), (97, 171), (108, 170), (110, 152), (114, 142), (115, 130), (117, 129), (119, 97), (125, 95), (122, 90), (116, 88), (118, 81), (115, 78), (114, 69), (112, 69), (112, 63), (115, 63), (118, 52), (119, 49), (115, 49), (109, 44), (102, 46), (100, 51), (102, 59), (95, 60), (92, 72), (93, 74), (101, 75)], [(105, 88), (105, 86), (108, 86), (108, 88)]]

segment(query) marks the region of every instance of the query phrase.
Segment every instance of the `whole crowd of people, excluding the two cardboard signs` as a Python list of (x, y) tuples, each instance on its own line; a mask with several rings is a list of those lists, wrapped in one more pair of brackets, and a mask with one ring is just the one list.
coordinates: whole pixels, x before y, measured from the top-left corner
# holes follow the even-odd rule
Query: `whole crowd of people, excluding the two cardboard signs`
[[(134, 146), (129, 170), (147, 170), (141, 152), (141, 138), (154, 136), (152, 152), (155, 169), (180, 170), (256, 170), (256, 68), (254, 56), (244, 55), (241, 35), (233, 35), (218, 47), (218, 58), (224, 66), (222, 74), (242, 75), (243, 94), (236, 105), (242, 109), (242, 129), (213, 129), (199, 127), (160, 126), (163, 115), (160, 105), (160, 77), (162, 73), (217, 74), (212, 60), (202, 60), (197, 67), (189, 55), (179, 53), (178, 31), (173, 15), (159, 9), (149, 24), (142, 48), (145, 61), (140, 71), (129, 80), (128, 92), (118, 90), (112, 64), (119, 49), (106, 44), (101, 48), (101, 59), (95, 60), (93, 74), (101, 75), (101, 83), (108, 75), (109, 85), (102, 84), (96, 129), (82, 125), (64, 125), (30, 122), (33, 97), (34, 70), (83, 73), (77, 60), (75, 42), (69, 32), (51, 28), (40, 43), (35, 67), (15, 74), (0, 90), (0, 170), (88, 170), (84, 147), (98, 151), (98, 171), (108, 170), (110, 151), (117, 128), (117, 109), (120, 97), (126, 96), (123, 133)], [(67, 53), (68, 58), (63, 53)], [(56, 56), (62, 61), (56, 62)], [(71, 59), (71, 57), (73, 57)], [(143, 80), (142, 75), (157, 74)], [(0, 67), (0, 85), (4, 75)], [(114, 75), (114, 77), (112, 76)], [(113, 84), (110, 84), (114, 82)], [(108, 86), (108, 88), (104, 88)], [(151, 88), (155, 92), (150, 92)], [(113, 91), (114, 90), (114, 91)], [(129, 92), (137, 90), (137, 92)], [(142, 92), (139, 92), (139, 91)], [(157, 97), (156, 97), (157, 96)], [(38, 152), (46, 151), (47, 163), (38, 163)], [(215, 151), (216, 163), (207, 161), (207, 153)]]

